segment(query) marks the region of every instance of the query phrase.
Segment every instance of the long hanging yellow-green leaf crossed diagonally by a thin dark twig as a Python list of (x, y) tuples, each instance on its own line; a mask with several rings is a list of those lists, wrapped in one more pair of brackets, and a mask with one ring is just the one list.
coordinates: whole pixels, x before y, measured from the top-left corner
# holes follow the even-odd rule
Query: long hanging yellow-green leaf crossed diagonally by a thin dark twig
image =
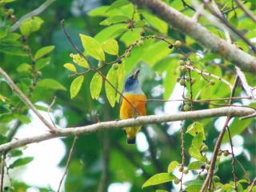
[[(110, 68), (109, 72), (106, 74), (106, 79), (117, 89), (118, 88), (118, 70), (114, 70), (113, 67)], [(116, 90), (110, 86), (109, 82), (105, 82), (105, 91), (106, 91), (106, 98), (110, 102), (110, 106), (114, 107), (116, 102)]]

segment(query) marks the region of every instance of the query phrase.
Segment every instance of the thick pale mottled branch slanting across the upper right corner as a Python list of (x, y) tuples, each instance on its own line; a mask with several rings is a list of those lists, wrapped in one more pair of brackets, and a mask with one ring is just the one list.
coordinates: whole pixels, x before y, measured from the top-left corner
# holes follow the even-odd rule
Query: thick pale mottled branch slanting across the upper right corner
[(210, 33), (206, 27), (192, 18), (188, 18), (165, 2), (159, 0), (134, 0), (139, 6), (146, 6), (171, 26), (189, 35), (191, 38), (212, 52), (222, 55), (242, 70), (256, 72), (256, 58), (238, 49), (238, 47), (224, 41), (217, 35)]

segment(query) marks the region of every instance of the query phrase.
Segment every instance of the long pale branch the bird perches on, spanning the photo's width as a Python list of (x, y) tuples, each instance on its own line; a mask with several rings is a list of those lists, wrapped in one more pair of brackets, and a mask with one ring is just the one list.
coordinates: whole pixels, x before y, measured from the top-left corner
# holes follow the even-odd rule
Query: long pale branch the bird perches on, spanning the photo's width
[(255, 112), (252, 108), (241, 106), (220, 107), (210, 110), (196, 110), (179, 112), (175, 114), (164, 115), (147, 115), (138, 118), (129, 118), (121, 121), (110, 122), (98, 122), (89, 126), (70, 127), (65, 129), (54, 130), (53, 133), (38, 134), (33, 137), (21, 138), (13, 142), (7, 142), (0, 145), (0, 152), (4, 150), (10, 150), (19, 146), (25, 146), (34, 142), (42, 142), (50, 138), (67, 137), (72, 135), (90, 134), (99, 130), (109, 130), (114, 128), (121, 128), (126, 126), (142, 126), (146, 124), (162, 123), (162, 122), (175, 122), (186, 119), (198, 119), (198, 118), (215, 118), (220, 116), (237, 116), (242, 117)]

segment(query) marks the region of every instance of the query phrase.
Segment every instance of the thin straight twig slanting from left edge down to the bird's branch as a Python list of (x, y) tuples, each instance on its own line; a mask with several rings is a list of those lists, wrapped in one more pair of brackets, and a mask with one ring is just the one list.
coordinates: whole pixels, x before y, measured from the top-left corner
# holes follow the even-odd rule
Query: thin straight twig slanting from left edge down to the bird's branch
[(20, 89), (18, 89), (18, 86), (15, 85), (13, 80), (11, 80), (10, 76), (6, 74), (6, 71), (2, 70), (0, 67), (0, 74), (2, 74), (2, 77), (6, 79), (6, 82), (11, 87), (11, 89), (14, 91), (15, 94), (18, 95), (18, 97), (24, 102), (27, 106), (30, 107), (31, 110), (34, 111), (34, 114), (38, 116), (38, 118), (45, 124), (51, 131), (55, 130), (54, 126), (52, 126), (47, 120), (42, 117), (42, 114), (38, 112), (38, 110), (34, 107), (33, 103), (30, 102), (30, 99), (26, 97), (25, 94), (22, 93)]

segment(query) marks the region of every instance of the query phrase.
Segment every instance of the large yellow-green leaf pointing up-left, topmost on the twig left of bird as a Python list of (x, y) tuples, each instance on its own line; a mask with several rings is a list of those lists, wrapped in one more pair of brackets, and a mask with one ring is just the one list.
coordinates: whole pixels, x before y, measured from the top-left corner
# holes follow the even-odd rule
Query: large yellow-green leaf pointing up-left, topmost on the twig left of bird
[(99, 61), (105, 61), (105, 54), (100, 43), (95, 38), (91, 38), (85, 34), (79, 35), (86, 53)]

